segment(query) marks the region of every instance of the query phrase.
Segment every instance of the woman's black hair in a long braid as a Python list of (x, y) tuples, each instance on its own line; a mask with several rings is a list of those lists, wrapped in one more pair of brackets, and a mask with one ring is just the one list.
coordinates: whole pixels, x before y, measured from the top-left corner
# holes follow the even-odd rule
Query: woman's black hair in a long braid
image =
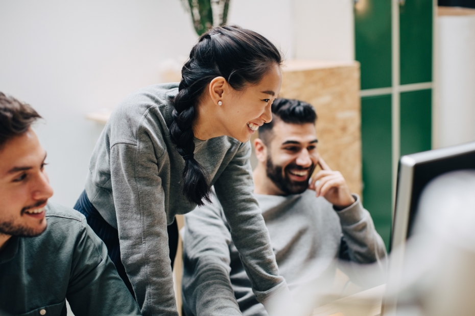
[(280, 51), (264, 36), (235, 25), (216, 27), (199, 39), (181, 69), (170, 134), (185, 160), (182, 192), (192, 203), (209, 202), (207, 171), (194, 159), (192, 125), (198, 99), (213, 78), (222, 76), (234, 90), (257, 84), (273, 64), (281, 64)]

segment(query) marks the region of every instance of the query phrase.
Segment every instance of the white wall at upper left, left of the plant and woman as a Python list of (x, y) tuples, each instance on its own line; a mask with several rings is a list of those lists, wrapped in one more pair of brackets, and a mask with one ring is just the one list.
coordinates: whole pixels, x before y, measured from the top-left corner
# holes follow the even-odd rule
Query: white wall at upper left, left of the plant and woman
[(84, 190), (102, 130), (86, 113), (156, 83), (161, 61), (196, 38), (178, 0), (0, 2), (0, 91), (45, 118), (37, 131), (54, 200), (73, 206)]

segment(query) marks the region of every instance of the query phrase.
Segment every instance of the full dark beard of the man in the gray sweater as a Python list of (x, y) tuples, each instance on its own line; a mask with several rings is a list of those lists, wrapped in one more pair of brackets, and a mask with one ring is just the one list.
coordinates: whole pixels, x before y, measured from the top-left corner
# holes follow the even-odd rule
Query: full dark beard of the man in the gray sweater
[(308, 173), (308, 178), (304, 181), (292, 181), (291, 179), (289, 179), (288, 176), (289, 169), (305, 170), (307, 168), (302, 168), (301, 166), (298, 166), (296, 164), (289, 164), (285, 168), (285, 170), (282, 171), (282, 166), (274, 165), (272, 163), (271, 157), (268, 156), (266, 163), (266, 174), (268, 178), (271, 179), (272, 182), (274, 182), (274, 185), (276, 185), (277, 188), (285, 195), (300, 194), (308, 189), (308, 179), (310, 179), (314, 168), (315, 164), (312, 164), (312, 166), (310, 167), (310, 172)]

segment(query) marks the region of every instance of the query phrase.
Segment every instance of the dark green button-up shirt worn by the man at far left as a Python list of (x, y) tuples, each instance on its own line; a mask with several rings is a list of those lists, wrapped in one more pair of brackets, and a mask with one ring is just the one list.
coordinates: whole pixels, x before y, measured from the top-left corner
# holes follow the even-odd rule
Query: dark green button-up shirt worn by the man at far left
[(47, 228), (36, 237), (13, 236), (0, 252), (0, 313), (75, 316), (140, 315), (107, 248), (82, 214), (52, 202)]

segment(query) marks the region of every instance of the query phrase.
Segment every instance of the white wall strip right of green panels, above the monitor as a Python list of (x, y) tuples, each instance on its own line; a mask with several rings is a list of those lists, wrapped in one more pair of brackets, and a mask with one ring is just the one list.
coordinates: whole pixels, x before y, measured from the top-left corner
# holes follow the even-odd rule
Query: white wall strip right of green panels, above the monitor
[(437, 17), (436, 147), (475, 141), (475, 10)]

